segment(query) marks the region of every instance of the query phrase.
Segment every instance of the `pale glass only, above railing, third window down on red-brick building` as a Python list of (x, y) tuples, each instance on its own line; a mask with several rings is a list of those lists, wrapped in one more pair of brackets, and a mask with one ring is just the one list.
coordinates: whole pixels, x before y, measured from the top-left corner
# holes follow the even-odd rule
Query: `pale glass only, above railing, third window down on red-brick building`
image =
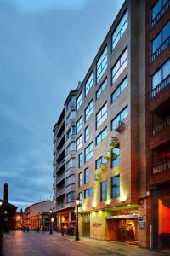
[(164, 79), (170, 75), (170, 59), (161, 66), (151, 77), (151, 89), (154, 90)]

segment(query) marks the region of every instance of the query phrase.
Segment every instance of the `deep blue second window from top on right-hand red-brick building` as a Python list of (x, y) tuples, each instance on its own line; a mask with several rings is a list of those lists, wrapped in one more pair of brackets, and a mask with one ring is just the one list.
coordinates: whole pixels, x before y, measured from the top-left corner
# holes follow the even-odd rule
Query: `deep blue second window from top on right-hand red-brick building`
[(166, 42), (167, 38), (170, 36), (170, 21), (167, 22), (167, 24), (161, 29), (161, 32), (156, 36), (156, 38), (153, 40), (151, 44), (151, 54), (154, 55), (157, 49), (160, 49), (160, 52), (167, 47), (169, 44), (164, 43)]

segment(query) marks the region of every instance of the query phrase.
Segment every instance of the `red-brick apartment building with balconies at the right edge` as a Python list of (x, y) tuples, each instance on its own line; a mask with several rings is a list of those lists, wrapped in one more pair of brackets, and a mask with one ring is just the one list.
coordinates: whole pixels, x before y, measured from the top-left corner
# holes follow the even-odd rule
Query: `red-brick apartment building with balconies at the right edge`
[(170, 244), (170, 1), (146, 4), (148, 232), (159, 249)]

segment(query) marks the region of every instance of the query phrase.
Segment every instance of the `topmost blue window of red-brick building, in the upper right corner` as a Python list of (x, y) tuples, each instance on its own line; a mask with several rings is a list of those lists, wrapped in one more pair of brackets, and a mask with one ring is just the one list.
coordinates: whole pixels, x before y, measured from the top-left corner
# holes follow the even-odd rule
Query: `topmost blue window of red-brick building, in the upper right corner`
[(170, 6), (169, 0), (158, 0), (151, 9), (151, 26), (155, 26), (156, 22), (167, 11)]

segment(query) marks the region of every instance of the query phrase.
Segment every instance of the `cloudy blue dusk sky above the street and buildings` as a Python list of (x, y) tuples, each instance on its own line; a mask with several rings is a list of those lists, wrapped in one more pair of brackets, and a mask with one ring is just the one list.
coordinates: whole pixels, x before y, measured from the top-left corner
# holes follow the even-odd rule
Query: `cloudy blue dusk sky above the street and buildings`
[(0, 198), (53, 196), (53, 127), (123, 0), (0, 0)]

